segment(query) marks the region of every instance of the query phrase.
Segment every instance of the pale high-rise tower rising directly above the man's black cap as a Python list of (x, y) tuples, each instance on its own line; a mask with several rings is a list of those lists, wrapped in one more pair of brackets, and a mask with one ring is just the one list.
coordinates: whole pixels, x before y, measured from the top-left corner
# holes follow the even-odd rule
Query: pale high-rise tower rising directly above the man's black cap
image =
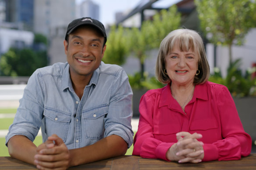
[(100, 16), (100, 7), (92, 0), (85, 0), (78, 6), (78, 17), (91, 17), (96, 20)]

